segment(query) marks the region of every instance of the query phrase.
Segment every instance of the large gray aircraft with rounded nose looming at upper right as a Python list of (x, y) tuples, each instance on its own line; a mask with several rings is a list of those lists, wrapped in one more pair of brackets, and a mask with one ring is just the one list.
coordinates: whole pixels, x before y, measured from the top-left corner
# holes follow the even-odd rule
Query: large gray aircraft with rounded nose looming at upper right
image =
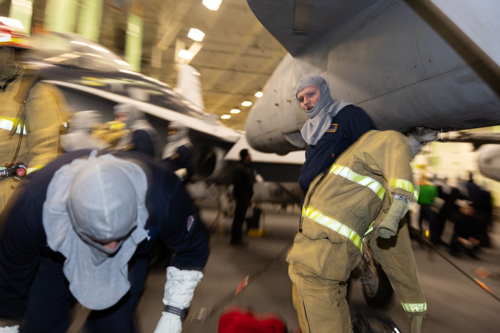
[(362, 107), (381, 130), (498, 124), (500, 3), (479, 2), (247, 0), (288, 51), (248, 115), (248, 143), (278, 154), (305, 148), (295, 85), (309, 73), (322, 74), (334, 99)]

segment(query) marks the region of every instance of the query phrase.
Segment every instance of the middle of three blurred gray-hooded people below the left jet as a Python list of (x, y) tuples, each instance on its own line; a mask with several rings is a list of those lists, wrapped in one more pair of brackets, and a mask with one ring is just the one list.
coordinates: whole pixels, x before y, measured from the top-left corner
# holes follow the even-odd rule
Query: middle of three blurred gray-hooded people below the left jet
[(133, 150), (156, 157), (158, 133), (142, 111), (132, 104), (118, 103), (113, 107), (113, 115), (114, 120), (124, 122), (129, 130), (116, 145), (116, 150)]

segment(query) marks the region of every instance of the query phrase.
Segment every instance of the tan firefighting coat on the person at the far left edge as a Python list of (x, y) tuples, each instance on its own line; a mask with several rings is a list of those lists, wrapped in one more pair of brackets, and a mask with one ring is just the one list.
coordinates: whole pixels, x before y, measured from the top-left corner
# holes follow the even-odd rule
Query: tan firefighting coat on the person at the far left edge
[[(0, 167), (10, 163), (15, 155), (20, 130), (9, 139), (9, 128), (17, 115), (19, 104), (12, 100), (21, 84), (24, 70), (10, 59), (0, 76)], [(61, 101), (53, 89), (47, 89), (42, 83), (36, 83), (29, 92), (24, 105), (25, 134), (14, 162), (24, 162), (29, 169), (40, 168), (57, 156), (59, 127), (62, 113), (59, 110)], [(13, 177), (0, 178), (0, 211), (17, 186)]]

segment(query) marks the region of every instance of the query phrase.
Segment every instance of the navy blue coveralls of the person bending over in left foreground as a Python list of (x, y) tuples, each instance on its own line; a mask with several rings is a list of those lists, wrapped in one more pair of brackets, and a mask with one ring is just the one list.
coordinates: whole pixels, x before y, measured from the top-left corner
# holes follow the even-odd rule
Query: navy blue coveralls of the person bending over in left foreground
[[(69, 326), (71, 295), (62, 272), (64, 257), (49, 249), (42, 224), (42, 207), (54, 173), (89, 150), (67, 153), (23, 179), (1, 219), (0, 319), (21, 320), (22, 333), (64, 333)], [(145, 229), (148, 237), (128, 263), (131, 287), (117, 304), (94, 311), (89, 321), (94, 332), (134, 332), (133, 316), (144, 286), (148, 253), (161, 241), (174, 253), (170, 266), (202, 269), (208, 258), (207, 237), (195, 208), (178, 177), (142, 154), (106, 152), (137, 163), (148, 179)], [(126, 203), (124, 203), (126, 204)], [(194, 224), (187, 228), (188, 217)], [(158, 304), (158, 311), (162, 310)]]

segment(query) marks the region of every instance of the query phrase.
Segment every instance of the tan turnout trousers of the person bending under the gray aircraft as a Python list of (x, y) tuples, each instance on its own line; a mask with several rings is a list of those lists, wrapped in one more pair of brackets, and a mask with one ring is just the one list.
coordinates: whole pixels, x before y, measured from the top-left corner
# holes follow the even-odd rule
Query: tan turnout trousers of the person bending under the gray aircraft
[(297, 234), (287, 261), (302, 333), (352, 332), (346, 281), (360, 259), (361, 252), (348, 240), (331, 243)]

